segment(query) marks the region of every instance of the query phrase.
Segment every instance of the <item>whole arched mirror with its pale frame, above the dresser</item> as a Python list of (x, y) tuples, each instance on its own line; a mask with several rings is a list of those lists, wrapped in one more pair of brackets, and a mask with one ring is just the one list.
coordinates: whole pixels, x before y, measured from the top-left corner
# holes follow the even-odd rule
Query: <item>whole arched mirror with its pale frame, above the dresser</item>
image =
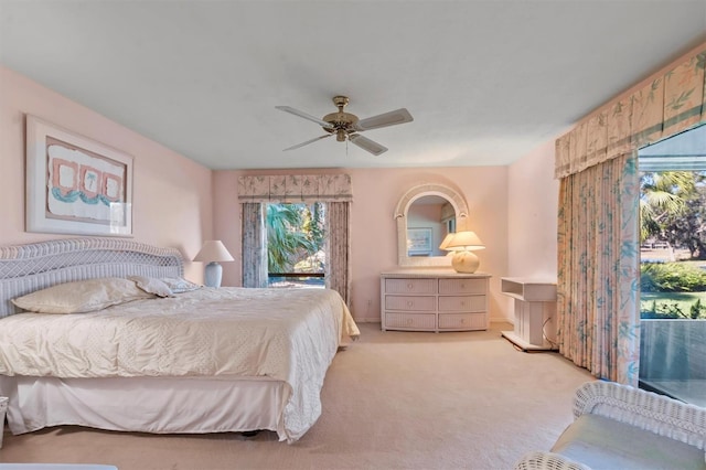
[(420, 184), (407, 191), (395, 209), (399, 266), (451, 266), (439, 245), (450, 232), (466, 229), (468, 207), (443, 184)]

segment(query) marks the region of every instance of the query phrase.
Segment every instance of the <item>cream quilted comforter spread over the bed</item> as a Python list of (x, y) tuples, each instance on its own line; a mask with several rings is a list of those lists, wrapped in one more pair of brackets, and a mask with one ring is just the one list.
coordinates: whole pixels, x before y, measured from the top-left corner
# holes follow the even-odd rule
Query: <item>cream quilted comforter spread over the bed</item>
[(321, 413), (336, 349), (357, 334), (332, 290), (203, 288), (97, 312), (4, 318), (0, 374), (271, 377), (291, 387), (285, 421), (296, 439)]

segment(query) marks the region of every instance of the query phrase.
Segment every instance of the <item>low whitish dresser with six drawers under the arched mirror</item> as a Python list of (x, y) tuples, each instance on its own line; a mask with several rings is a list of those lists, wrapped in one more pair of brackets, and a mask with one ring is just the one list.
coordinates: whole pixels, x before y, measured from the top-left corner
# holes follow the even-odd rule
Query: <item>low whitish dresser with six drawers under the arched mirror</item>
[(488, 274), (400, 269), (381, 274), (383, 331), (486, 330)]

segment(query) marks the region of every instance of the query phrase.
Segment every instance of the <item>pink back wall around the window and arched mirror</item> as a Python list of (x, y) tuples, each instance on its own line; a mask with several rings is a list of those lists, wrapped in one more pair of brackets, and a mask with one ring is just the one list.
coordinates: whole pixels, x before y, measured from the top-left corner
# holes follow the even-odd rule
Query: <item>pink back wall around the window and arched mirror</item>
[[(216, 171), (214, 175), (215, 235), (234, 254), (240, 252), (237, 179), (245, 174), (349, 173), (353, 184), (352, 305), (359, 321), (379, 321), (379, 273), (397, 266), (397, 225), (393, 211), (403, 194), (420, 183), (459, 188), (469, 206), (471, 227), (488, 248), (479, 252), (480, 270), (491, 279), (491, 319), (506, 319), (500, 277), (507, 275), (507, 167), (436, 169), (334, 169), (281, 171)], [(239, 286), (238, 261), (224, 264), (224, 285)]]

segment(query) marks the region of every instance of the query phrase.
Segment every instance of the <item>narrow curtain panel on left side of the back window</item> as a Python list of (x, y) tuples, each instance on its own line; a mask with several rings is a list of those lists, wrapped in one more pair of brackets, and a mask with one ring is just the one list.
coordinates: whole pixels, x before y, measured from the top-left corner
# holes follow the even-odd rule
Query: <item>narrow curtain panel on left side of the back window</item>
[(265, 205), (243, 203), (243, 287), (267, 287)]

